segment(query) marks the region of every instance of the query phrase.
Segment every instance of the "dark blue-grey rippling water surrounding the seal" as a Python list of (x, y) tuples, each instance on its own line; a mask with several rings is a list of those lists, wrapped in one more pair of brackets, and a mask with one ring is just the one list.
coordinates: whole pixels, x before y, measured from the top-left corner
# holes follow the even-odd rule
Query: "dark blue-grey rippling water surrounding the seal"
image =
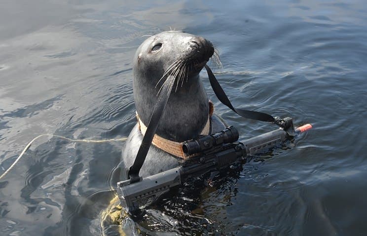
[[(366, 13), (363, 0), (3, 0), (0, 174), (38, 134), (127, 136), (133, 55), (170, 27), (218, 47), (217, 79), (235, 106), (315, 128), (135, 222), (118, 218), (108, 190), (123, 143), (37, 140), (0, 180), (0, 235), (365, 235)], [(203, 80), (241, 138), (275, 128), (239, 118)]]

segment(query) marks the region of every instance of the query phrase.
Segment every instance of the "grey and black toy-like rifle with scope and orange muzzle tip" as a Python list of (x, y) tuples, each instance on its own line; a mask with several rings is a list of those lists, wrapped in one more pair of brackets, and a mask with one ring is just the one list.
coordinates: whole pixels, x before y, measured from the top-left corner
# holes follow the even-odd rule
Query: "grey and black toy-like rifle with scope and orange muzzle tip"
[(216, 134), (201, 135), (197, 139), (184, 142), (183, 151), (190, 157), (179, 161), (178, 167), (140, 177), (138, 182), (118, 182), (117, 195), (121, 205), (130, 213), (143, 209), (171, 188), (182, 185), (188, 177), (220, 170), (239, 162), (245, 163), (247, 157), (268, 151), (293, 138), (295, 134), (312, 128), (310, 124), (306, 124), (294, 130), (292, 118), (283, 120), (287, 122), (287, 129), (273, 130), (243, 142), (236, 142), (239, 135), (233, 126)]

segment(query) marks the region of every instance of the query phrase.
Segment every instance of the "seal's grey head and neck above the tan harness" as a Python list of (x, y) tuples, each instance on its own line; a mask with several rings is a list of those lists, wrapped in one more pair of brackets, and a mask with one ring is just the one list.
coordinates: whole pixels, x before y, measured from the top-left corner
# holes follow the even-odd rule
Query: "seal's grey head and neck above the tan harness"
[(137, 113), (148, 124), (157, 94), (168, 75), (176, 82), (156, 134), (176, 142), (197, 137), (209, 116), (208, 98), (199, 72), (214, 53), (202, 37), (168, 31), (145, 40), (133, 66)]

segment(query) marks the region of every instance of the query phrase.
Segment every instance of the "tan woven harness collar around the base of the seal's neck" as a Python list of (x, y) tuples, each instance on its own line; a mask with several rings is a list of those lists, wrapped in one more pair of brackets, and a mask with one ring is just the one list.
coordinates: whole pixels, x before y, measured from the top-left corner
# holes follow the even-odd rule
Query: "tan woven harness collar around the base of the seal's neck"
[[(212, 101), (209, 100), (209, 116), (208, 120), (203, 128), (203, 130), (200, 132), (202, 135), (208, 135), (210, 132), (210, 118), (212, 117), (214, 112), (214, 104)], [(143, 121), (140, 119), (138, 113), (136, 113), (136, 118), (138, 119), (138, 125), (139, 129), (142, 132), (143, 135), (145, 135), (147, 131), (147, 126), (143, 123)], [(180, 158), (188, 158), (190, 156), (186, 156), (184, 154), (184, 151), (182, 149), (183, 143), (175, 142), (169, 139), (162, 138), (161, 136), (154, 134), (153, 140), (151, 142), (155, 147), (165, 151), (166, 153), (169, 153), (173, 156), (180, 157)]]

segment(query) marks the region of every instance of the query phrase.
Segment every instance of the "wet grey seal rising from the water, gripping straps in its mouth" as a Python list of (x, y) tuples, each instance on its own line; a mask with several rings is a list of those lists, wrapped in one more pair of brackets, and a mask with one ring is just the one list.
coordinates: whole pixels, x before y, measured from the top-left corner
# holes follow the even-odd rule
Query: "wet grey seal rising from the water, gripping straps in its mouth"
[[(210, 116), (210, 103), (199, 77), (213, 55), (218, 56), (209, 40), (178, 31), (154, 35), (139, 46), (133, 61), (133, 92), (139, 122), (122, 154), (126, 167), (135, 160), (143, 139), (141, 126), (147, 126), (157, 94), (168, 76), (174, 76), (175, 83), (156, 135), (183, 142), (227, 126), (219, 116)], [(140, 175), (156, 174), (177, 165), (178, 157), (151, 145)]]

